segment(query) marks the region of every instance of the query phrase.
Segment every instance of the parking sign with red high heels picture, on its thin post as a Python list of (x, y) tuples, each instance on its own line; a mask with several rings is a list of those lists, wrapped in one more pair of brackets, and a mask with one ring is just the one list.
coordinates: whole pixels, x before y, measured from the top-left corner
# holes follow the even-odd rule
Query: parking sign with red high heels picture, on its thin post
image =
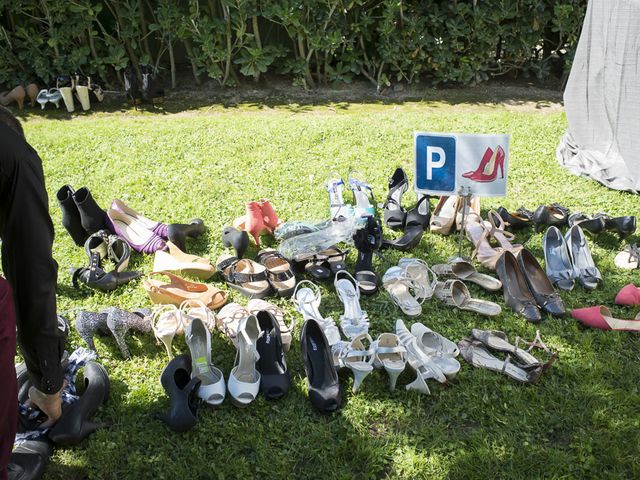
[[(415, 132), (415, 189), (427, 195), (463, 199), (458, 257), (472, 196), (507, 194), (509, 135)], [(454, 260), (456, 260), (454, 259)]]

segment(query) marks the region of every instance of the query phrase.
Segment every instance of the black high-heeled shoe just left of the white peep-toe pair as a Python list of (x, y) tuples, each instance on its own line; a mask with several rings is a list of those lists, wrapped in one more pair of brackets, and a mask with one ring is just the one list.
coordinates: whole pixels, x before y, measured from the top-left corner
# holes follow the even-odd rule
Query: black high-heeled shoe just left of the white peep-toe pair
[(198, 420), (198, 408), (202, 403), (198, 397), (200, 379), (191, 378), (191, 357), (182, 354), (172, 359), (162, 371), (160, 383), (171, 407), (158, 418), (174, 432), (191, 430)]

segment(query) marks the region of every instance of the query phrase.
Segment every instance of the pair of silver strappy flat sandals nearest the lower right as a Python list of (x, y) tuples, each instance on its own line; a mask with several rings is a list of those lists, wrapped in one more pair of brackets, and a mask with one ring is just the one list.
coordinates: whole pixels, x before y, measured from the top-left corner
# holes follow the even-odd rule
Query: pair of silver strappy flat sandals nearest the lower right
[[(485, 368), (494, 372), (502, 373), (521, 383), (535, 384), (540, 380), (540, 376), (547, 371), (558, 358), (547, 348), (540, 338), (540, 331), (536, 331), (533, 342), (524, 342), (528, 348), (522, 349), (518, 345), (523, 341), (516, 338), (516, 344), (509, 343), (509, 339), (504, 332), (498, 330), (478, 330), (471, 331), (471, 338), (465, 338), (458, 342), (460, 353), (468, 363), (478, 368)], [(541, 362), (531, 354), (533, 348), (539, 348), (546, 352), (548, 359)], [(490, 350), (506, 353), (503, 360), (496, 357)]]

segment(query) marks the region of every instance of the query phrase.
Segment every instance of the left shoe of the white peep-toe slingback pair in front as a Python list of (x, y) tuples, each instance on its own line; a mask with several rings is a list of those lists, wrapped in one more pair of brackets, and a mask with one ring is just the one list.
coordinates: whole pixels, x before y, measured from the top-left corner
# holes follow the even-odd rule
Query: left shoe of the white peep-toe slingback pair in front
[(202, 319), (193, 317), (186, 327), (185, 337), (191, 352), (191, 378), (200, 380), (198, 397), (209, 405), (224, 401), (224, 375), (211, 362), (211, 333)]

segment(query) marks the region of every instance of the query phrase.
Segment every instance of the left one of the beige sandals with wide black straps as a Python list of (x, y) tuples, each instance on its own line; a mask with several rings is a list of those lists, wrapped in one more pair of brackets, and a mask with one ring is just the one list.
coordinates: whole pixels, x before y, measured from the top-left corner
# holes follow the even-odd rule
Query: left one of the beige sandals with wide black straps
[(218, 257), (216, 268), (231, 288), (250, 298), (264, 298), (271, 293), (267, 269), (264, 265), (229, 254)]

